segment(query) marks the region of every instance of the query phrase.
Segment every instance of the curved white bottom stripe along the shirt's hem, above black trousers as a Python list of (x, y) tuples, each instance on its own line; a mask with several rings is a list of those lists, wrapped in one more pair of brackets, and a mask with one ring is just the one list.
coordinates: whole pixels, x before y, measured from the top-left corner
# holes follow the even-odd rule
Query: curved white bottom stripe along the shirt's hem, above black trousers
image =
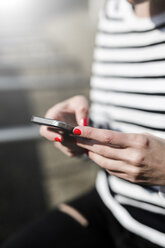
[(147, 227), (133, 219), (128, 211), (121, 206), (110, 194), (106, 175), (100, 171), (96, 179), (96, 189), (104, 202), (119, 223), (132, 233), (135, 233), (150, 242), (164, 247), (165, 235), (157, 230)]

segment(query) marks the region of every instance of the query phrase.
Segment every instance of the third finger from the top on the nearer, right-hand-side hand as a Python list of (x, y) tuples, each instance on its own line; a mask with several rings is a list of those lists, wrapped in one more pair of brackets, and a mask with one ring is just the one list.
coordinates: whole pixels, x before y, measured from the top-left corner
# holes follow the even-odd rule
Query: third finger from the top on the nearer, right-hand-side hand
[(103, 169), (119, 173), (127, 173), (128, 165), (123, 161), (105, 158), (91, 151), (88, 153), (88, 157)]

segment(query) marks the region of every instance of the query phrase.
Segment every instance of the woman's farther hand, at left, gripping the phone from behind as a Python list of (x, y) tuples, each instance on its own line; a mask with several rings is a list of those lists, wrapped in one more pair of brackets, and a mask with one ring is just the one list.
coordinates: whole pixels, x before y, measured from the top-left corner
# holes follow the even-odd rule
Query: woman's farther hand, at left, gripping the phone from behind
[[(88, 120), (88, 101), (84, 96), (78, 95), (60, 102), (50, 108), (46, 118), (69, 123), (73, 126), (86, 126)], [(76, 139), (71, 136), (63, 136), (50, 130), (47, 126), (41, 126), (40, 134), (50, 141), (55, 141), (55, 146), (67, 156), (82, 155), (85, 150), (76, 145)]]

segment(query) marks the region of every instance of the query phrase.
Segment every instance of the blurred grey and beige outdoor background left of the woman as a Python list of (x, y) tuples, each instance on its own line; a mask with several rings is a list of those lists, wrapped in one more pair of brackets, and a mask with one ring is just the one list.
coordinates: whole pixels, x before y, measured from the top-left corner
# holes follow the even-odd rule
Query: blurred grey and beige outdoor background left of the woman
[(32, 115), (88, 97), (103, 0), (0, 0), (0, 243), (93, 186), (97, 167), (42, 139)]

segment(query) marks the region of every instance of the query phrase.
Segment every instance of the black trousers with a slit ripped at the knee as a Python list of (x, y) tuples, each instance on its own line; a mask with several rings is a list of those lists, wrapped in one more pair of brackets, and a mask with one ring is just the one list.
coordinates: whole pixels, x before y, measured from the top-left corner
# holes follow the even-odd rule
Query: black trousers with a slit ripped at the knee
[(87, 227), (55, 209), (15, 234), (1, 248), (159, 247), (124, 229), (95, 189), (68, 204), (88, 220)]

